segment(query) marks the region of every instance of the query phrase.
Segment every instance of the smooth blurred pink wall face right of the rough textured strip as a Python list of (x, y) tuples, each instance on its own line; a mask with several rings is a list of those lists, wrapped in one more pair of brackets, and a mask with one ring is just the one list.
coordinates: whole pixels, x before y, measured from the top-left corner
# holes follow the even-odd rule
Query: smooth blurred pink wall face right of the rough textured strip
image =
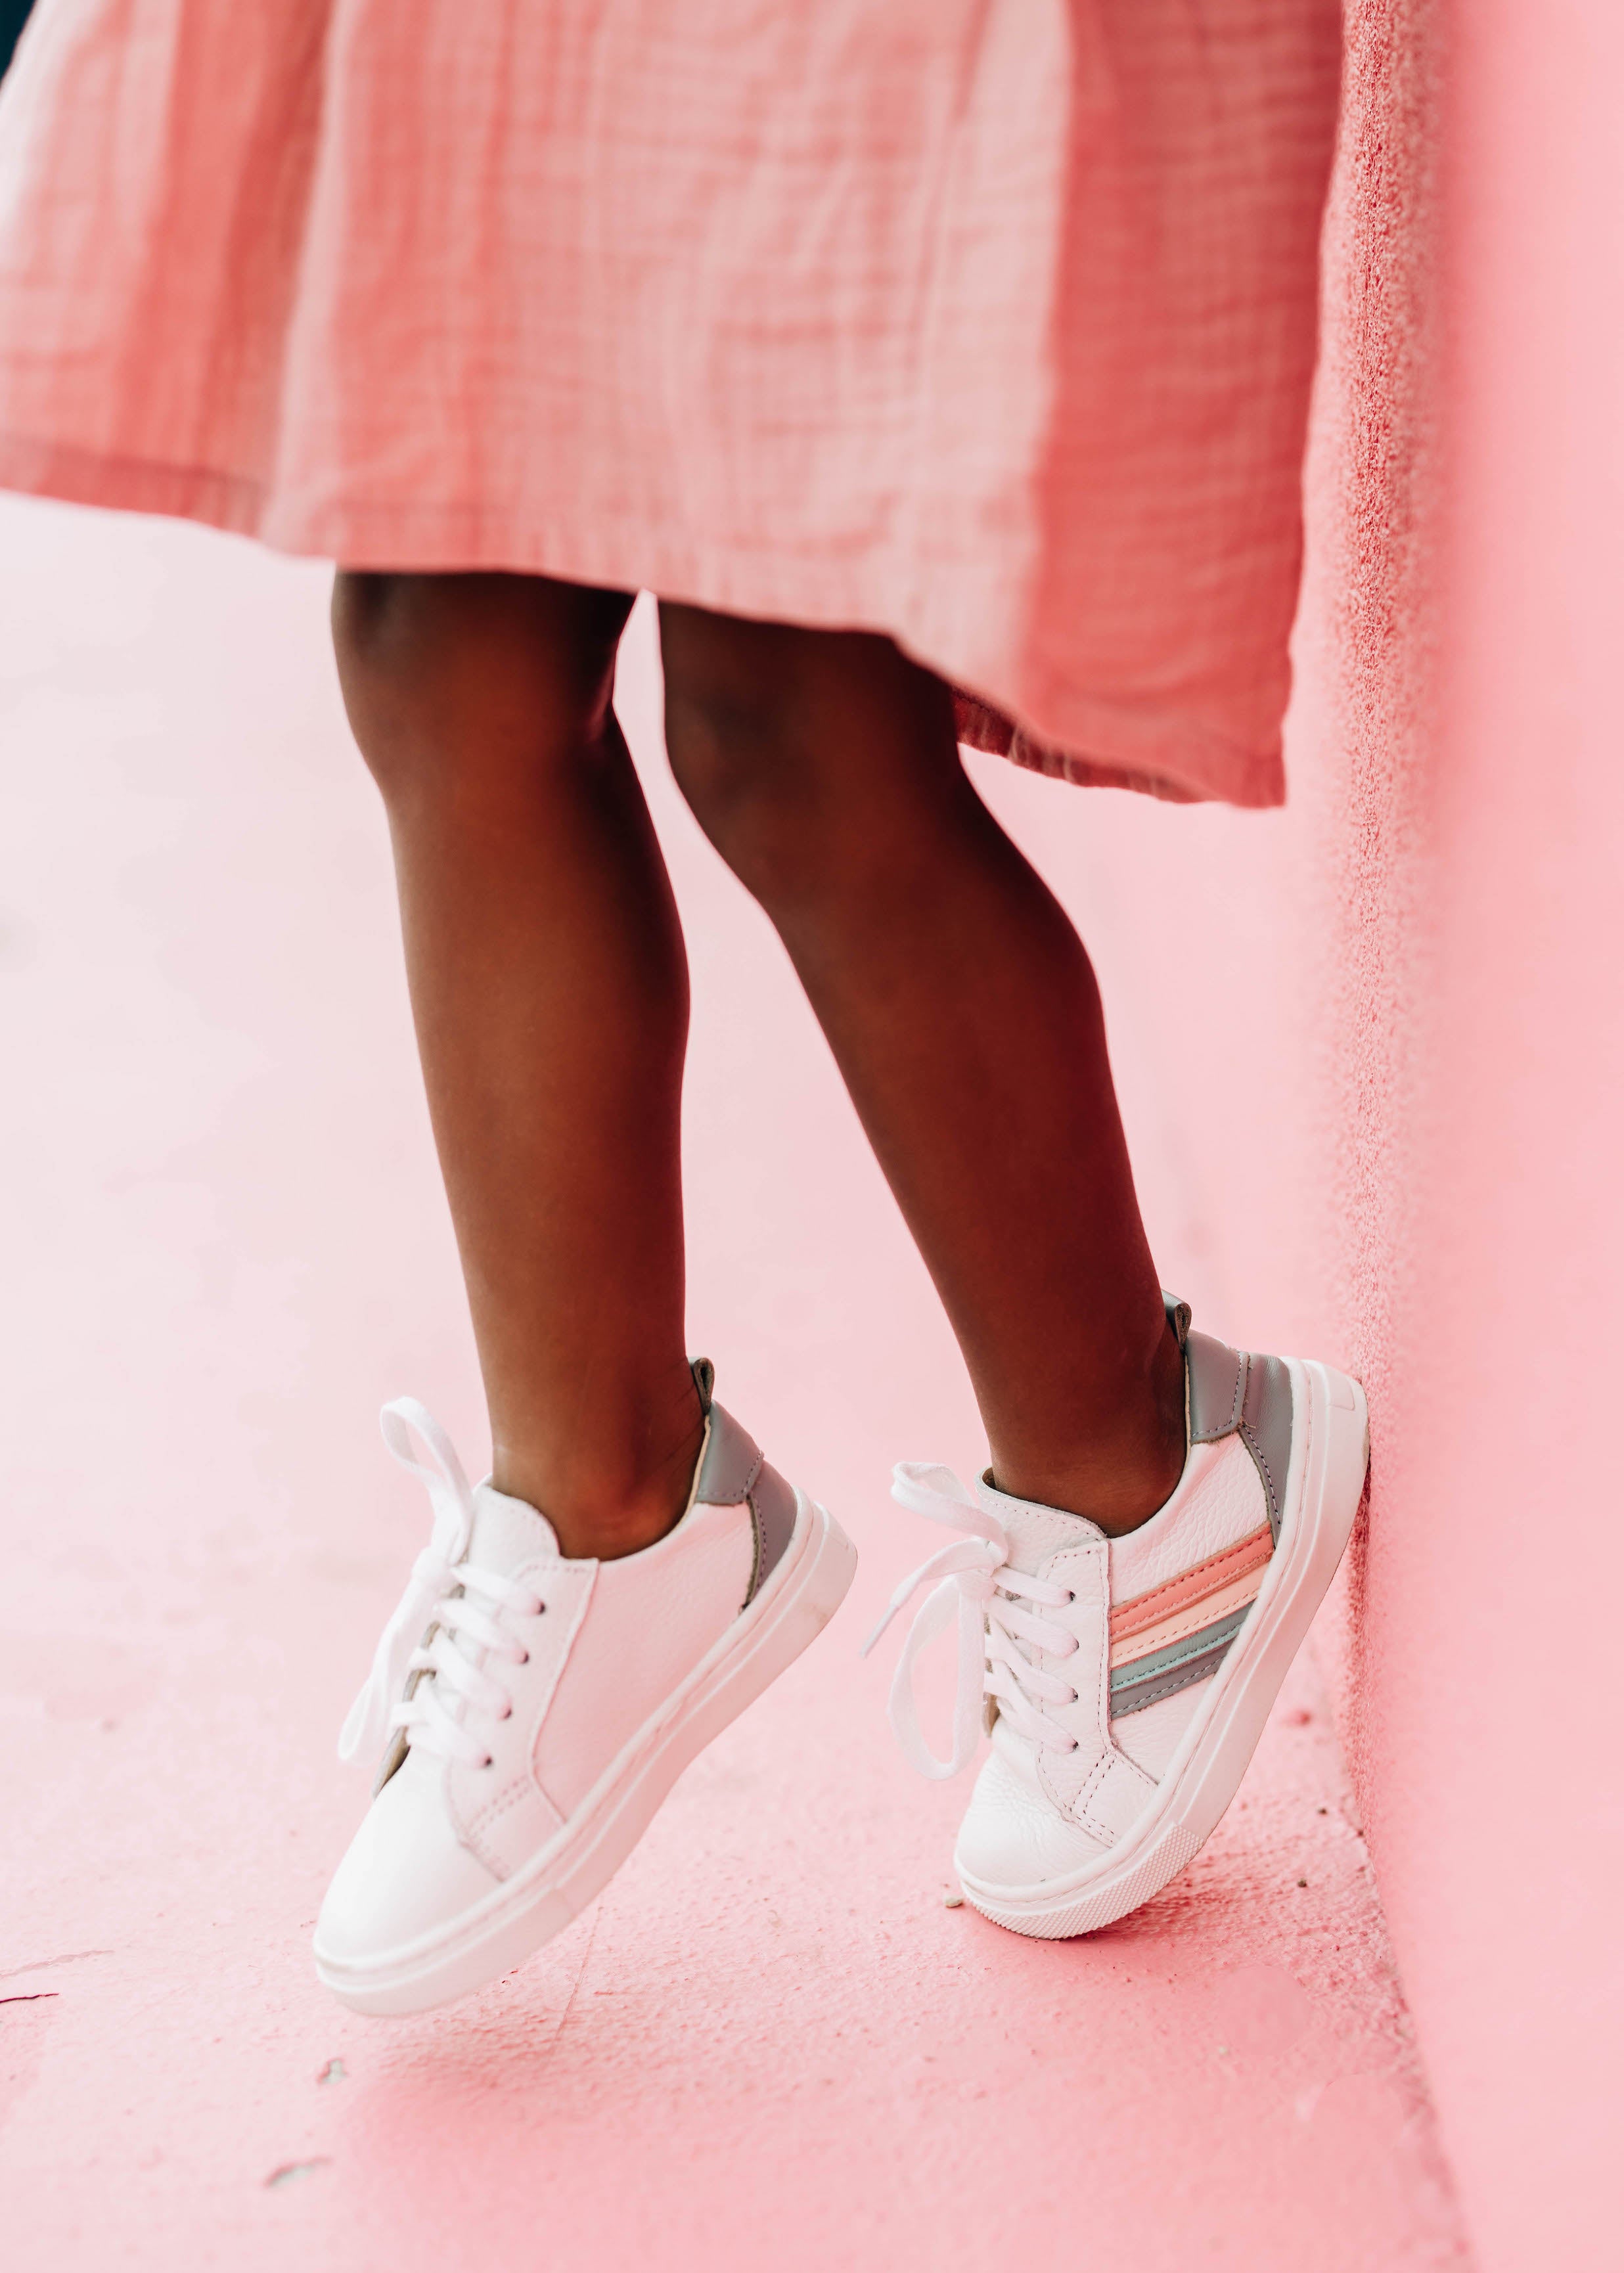
[(1624, 18), (1451, 39), (1415, 1237), (1362, 1777), (1488, 2268), (1624, 2262)]

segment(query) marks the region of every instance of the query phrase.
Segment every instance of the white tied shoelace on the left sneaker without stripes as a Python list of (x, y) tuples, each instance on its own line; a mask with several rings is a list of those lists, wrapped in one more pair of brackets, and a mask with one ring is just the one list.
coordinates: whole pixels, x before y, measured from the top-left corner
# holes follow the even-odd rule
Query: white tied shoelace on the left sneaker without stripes
[[(535, 1618), (546, 1605), (530, 1587), (466, 1559), (473, 1491), (434, 1414), (416, 1398), (396, 1398), (378, 1418), (400, 1466), (428, 1484), (434, 1530), (378, 1639), (373, 1671), (339, 1737), (339, 1759), (375, 1757), (396, 1730), (405, 1730), (412, 1746), (482, 1768), (491, 1750), (480, 1737), (480, 1716), (505, 1721), (514, 1709), (489, 1659), (521, 1666), (530, 1655), (503, 1625), (503, 1612)], [(412, 1457), (412, 1430), (432, 1452), (432, 1468)], [(484, 1666), (457, 1648), (459, 1634), (487, 1652)]]

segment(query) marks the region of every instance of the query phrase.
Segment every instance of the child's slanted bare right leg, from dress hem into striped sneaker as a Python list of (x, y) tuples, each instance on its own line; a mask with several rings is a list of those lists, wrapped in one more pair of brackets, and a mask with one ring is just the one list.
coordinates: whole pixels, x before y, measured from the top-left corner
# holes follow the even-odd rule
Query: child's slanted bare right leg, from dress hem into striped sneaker
[(996, 1482), (1128, 1530), (1185, 1457), (1099, 989), (871, 634), (662, 607), (671, 764), (773, 918), (976, 1384)]

